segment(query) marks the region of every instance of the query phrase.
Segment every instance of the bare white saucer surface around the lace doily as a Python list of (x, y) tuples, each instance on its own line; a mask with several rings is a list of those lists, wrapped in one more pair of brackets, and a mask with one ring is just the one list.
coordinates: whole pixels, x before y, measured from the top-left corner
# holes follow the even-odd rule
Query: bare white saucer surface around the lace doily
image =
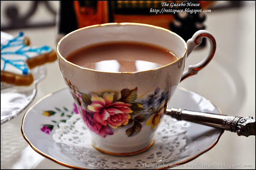
[[(216, 106), (214, 106), (209, 100), (205, 99), (203, 96), (195, 92), (189, 91), (184, 88), (178, 88), (176, 90), (175, 94), (172, 97), (172, 100), (169, 101), (168, 107), (186, 107), (188, 110), (221, 114), (221, 111)], [(26, 114), (24, 115), (21, 127), (22, 135), (28, 142), (28, 144), (36, 152), (40, 153), (44, 157), (51, 159), (52, 161), (60, 165), (67, 166), (70, 168), (96, 169), (99, 166), (89, 166), (89, 164), (86, 164), (83, 161), (81, 161), (82, 159), (85, 158), (79, 158), (75, 156), (75, 154), (71, 151), (71, 148), (67, 144), (57, 143), (52, 138), (54, 132), (56, 131), (56, 129), (58, 129), (56, 120), (62, 120), (62, 122), (68, 120), (69, 118), (66, 115), (72, 115), (71, 112), (73, 112), (74, 114), (73, 108), (73, 98), (71, 94), (68, 92), (68, 89), (65, 88), (52, 94), (48, 94), (41, 100), (37, 101), (31, 108), (29, 108)], [(46, 116), (47, 114), (49, 115), (50, 113), (53, 113), (50, 111), (55, 111), (59, 114)], [(62, 112), (64, 112), (64, 114), (62, 114)], [(164, 121), (167, 119), (170, 119), (170, 117), (165, 115)], [(223, 130), (215, 129), (204, 125), (199, 125), (185, 121), (173, 121), (175, 124), (182, 125), (182, 128), (185, 129), (185, 131), (187, 131), (185, 134), (186, 146), (182, 150), (180, 150), (180, 152), (176, 155), (174, 159), (165, 162), (164, 167), (159, 166), (160, 164), (163, 164), (160, 160), (161, 158), (156, 158), (155, 165), (149, 165), (148, 167), (138, 167), (135, 166), (136, 162), (130, 162), (132, 164), (129, 165), (134, 164), (134, 167), (132, 169), (155, 169), (157, 167), (168, 168), (166, 165), (182, 165), (212, 149), (212, 147), (217, 144), (218, 140), (220, 139), (220, 136), (223, 133)], [(48, 131), (47, 127), (44, 127), (46, 126), (46, 124), (54, 123), (54, 126), (48, 127)], [(164, 123), (166, 123), (166, 121)], [(166, 123), (165, 126), (170, 125)], [(49, 131), (49, 129), (52, 130)], [(155, 140), (157, 140), (157, 138)], [(152, 146), (152, 148), (154, 147)], [(116, 157), (106, 155), (101, 152), (99, 152), (98, 155), (99, 157), (104, 156), (106, 158), (105, 161), (108, 161), (110, 159), (115, 159), (116, 161), (118, 161), (118, 159), (122, 159), (122, 161), (130, 161), (135, 156), (140, 156), (140, 159), (142, 159), (143, 161), (143, 159), (146, 159), (147, 156), (149, 156), (147, 155), (148, 153), (149, 152), (144, 152), (138, 155), (128, 157)], [(156, 167), (156, 165), (158, 166)], [(125, 168), (125, 165), (123, 166), (123, 168)]]

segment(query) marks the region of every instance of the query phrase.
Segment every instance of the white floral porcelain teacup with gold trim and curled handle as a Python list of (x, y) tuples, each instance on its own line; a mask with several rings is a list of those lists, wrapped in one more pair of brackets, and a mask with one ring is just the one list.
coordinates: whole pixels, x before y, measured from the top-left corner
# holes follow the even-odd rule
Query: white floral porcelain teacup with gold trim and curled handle
[[(210, 53), (184, 71), (187, 56), (209, 40)], [(178, 59), (159, 68), (135, 72), (107, 72), (78, 66), (67, 55), (95, 43), (133, 41), (171, 50)], [(57, 45), (61, 75), (72, 94), (81, 118), (92, 136), (92, 145), (110, 155), (145, 152), (168, 101), (180, 81), (196, 74), (212, 59), (216, 42), (211, 33), (197, 31), (187, 43), (170, 30), (138, 23), (93, 25), (68, 33)]]

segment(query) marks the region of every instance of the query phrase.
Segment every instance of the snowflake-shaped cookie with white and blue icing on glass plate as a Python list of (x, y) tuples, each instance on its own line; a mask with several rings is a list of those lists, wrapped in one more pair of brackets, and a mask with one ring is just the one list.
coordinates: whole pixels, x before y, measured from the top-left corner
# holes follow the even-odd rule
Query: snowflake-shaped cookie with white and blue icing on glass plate
[(23, 32), (14, 38), (2, 35), (5, 34), (1, 32), (1, 82), (31, 85), (34, 78), (30, 70), (57, 59), (56, 51), (48, 46), (30, 46)]

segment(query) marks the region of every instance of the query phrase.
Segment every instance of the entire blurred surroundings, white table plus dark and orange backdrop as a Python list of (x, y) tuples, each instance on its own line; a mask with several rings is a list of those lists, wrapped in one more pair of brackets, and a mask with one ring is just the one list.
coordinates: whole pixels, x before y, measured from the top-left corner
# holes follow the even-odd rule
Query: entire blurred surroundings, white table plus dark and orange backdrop
[[(211, 10), (196, 14), (150, 12), (150, 8), (161, 9), (162, 2), (167, 1), (1, 1), (1, 31), (14, 36), (23, 31), (33, 45), (56, 48), (65, 34), (106, 22), (161, 26), (178, 33), (184, 40), (196, 30), (205, 29), (216, 39), (215, 56), (205, 69), (180, 86), (203, 95), (224, 115), (255, 119), (255, 1), (191, 1), (199, 2), (201, 9)], [(205, 48), (207, 42), (193, 51), (186, 65), (202, 60)], [(47, 77), (38, 84), (36, 97), (27, 109), (46, 94), (66, 87), (57, 61), (47, 64), (46, 70)], [(27, 109), (1, 124), (1, 169), (66, 168), (33, 151), (22, 137), (21, 120)], [(15, 140), (10, 140), (11, 137)], [(30, 160), (22, 158), (21, 151), (29, 149)], [(37, 159), (32, 160), (32, 155)], [(252, 165), (249, 169), (255, 169), (255, 136), (238, 137), (224, 132), (216, 146), (191, 163), (246, 164)]]

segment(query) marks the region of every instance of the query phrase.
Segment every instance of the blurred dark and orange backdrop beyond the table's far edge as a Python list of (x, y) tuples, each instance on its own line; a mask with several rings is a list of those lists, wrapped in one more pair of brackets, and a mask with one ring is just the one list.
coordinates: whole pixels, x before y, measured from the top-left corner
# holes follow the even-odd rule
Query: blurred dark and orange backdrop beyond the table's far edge
[[(162, 2), (170, 4), (182, 1), (1, 1), (1, 30), (56, 26), (60, 35), (94, 24), (137, 22), (170, 29), (187, 41), (195, 31), (206, 29), (204, 22), (207, 19), (207, 12), (159, 14), (149, 10), (151, 8), (161, 10)], [(190, 5), (189, 9), (210, 9), (210, 12), (253, 5), (250, 1), (184, 2), (194, 4), (199, 2), (200, 6)], [(164, 8), (168, 9), (166, 6)], [(169, 9), (183, 8), (185, 10), (185, 7), (169, 6)]]

